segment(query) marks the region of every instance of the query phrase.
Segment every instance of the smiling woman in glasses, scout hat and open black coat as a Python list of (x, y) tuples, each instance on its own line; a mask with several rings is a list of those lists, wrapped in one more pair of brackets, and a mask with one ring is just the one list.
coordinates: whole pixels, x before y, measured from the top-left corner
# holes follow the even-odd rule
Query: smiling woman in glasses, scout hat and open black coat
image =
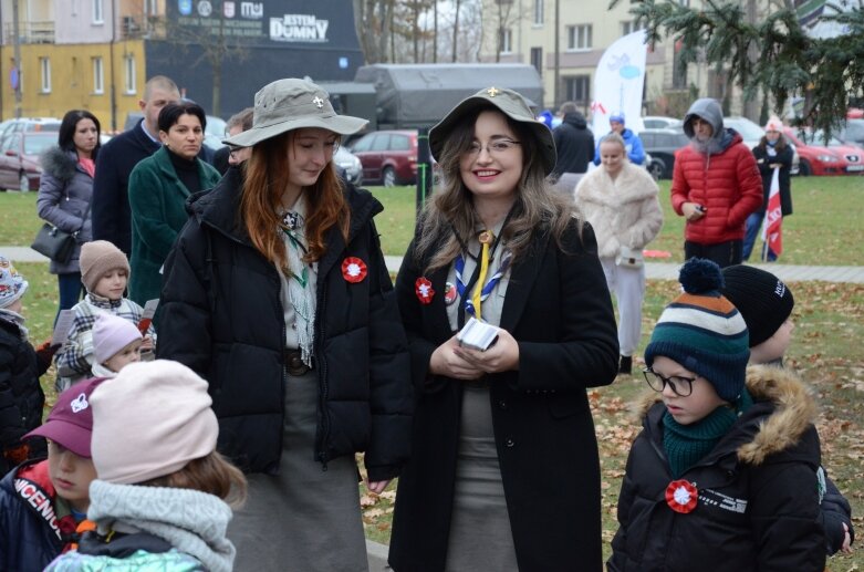
[[(601, 570), (585, 388), (618, 344), (594, 232), (545, 180), (552, 133), (520, 94), (478, 92), (429, 143), (445, 184), (396, 280), (420, 394), (391, 565)], [(485, 352), (455, 337), (472, 316), (497, 327)]]

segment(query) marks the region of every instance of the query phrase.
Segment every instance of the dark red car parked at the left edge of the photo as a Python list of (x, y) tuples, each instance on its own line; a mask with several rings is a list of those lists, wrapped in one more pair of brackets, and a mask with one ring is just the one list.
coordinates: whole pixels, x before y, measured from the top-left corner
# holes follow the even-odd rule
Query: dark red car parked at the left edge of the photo
[(39, 156), (56, 144), (56, 133), (10, 133), (0, 142), (0, 188), (21, 193), (39, 190), (42, 174)]

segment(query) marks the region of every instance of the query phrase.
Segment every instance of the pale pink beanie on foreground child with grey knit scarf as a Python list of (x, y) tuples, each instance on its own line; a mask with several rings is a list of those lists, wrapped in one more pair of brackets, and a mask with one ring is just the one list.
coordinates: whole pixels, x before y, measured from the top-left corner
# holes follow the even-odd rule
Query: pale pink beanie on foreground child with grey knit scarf
[(144, 482), (216, 450), (219, 425), (207, 382), (177, 362), (132, 363), (100, 385), (90, 403), (101, 480)]

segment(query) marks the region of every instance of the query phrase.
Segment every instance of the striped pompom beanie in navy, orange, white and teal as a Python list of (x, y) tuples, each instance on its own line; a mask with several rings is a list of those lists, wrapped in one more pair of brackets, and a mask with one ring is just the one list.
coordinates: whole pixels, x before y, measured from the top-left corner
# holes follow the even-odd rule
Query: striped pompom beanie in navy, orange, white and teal
[(660, 314), (645, 349), (648, 367), (665, 355), (705, 377), (721, 399), (735, 403), (745, 386), (750, 358), (747, 324), (719, 290), (724, 277), (715, 262), (691, 258), (678, 281), (684, 293)]

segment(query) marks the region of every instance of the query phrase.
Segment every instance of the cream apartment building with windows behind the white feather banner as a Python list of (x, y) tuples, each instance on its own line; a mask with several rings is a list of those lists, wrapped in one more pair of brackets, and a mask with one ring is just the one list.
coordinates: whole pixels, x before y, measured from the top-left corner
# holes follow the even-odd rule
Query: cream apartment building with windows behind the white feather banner
[[(543, 106), (552, 111), (565, 101), (574, 101), (590, 113), (594, 73), (601, 55), (615, 40), (636, 30), (627, 0), (621, 0), (613, 10), (608, 10), (608, 0), (482, 1), (481, 60), (534, 65), (543, 79)], [(676, 69), (674, 53), (672, 41), (648, 50), (643, 96), (645, 115), (680, 116), (695, 96), (728, 97), (730, 110), (742, 113), (740, 90), (728, 85), (725, 74), (705, 64)]]

